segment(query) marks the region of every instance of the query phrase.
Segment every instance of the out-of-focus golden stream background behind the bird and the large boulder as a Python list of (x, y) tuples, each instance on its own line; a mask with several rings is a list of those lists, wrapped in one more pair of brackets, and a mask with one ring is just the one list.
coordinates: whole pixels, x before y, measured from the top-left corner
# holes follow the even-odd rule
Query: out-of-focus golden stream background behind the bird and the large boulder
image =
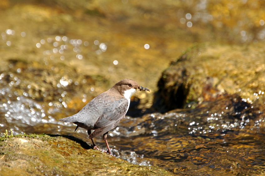
[(162, 71), (195, 43), (263, 43), (264, 8), (262, 0), (1, 0), (0, 136), (85, 139), (57, 119), (123, 78), (151, 90), (133, 97), (138, 111), (128, 115), (139, 117)]

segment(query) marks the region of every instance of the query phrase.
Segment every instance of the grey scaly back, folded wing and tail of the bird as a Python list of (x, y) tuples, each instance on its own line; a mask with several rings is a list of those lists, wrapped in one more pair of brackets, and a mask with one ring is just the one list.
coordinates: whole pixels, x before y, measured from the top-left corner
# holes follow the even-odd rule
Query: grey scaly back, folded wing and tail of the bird
[(90, 135), (93, 138), (117, 126), (125, 116), (127, 107), (126, 98), (115, 98), (104, 92), (86, 104), (77, 114), (60, 120), (82, 124), (81, 127), (87, 130), (96, 129), (95, 133)]

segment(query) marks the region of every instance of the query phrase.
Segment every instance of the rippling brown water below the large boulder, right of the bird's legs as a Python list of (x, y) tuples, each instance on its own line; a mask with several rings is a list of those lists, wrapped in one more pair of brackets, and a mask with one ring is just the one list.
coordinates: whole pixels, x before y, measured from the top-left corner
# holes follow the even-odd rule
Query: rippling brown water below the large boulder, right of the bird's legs
[(262, 111), (234, 95), (195, 109), (128, 117), (110, 133), (118, 135), (112, 141), (118, 157), (128, 159), (124, 151), (131, 151), (138, 162), (175, 174), (261, 175), (264, 125)]

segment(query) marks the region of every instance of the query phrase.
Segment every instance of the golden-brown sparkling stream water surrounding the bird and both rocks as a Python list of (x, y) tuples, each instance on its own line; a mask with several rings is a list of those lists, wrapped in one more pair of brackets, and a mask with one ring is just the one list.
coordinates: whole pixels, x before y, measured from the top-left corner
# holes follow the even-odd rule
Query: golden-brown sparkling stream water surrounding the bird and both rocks
[[(177, 175), (265, 175), (258, 108), (240, 111), (253, 118), (229, 116), (222, 102), (215, 108), (148, 113), (161, 72), (194, 42), (263, 42), (263, 6), (263, 1), (225, 0), (4, 0), (0, 136), (6, 130), (64, 134), (90, 145), (84, 129), (74, 132), (74, 125), (58, 119), (131, 78), (151, 92), (137, 92), (128, 116), (109, 132), (116, 157)], [(102, 138), (95, 142), (105, 147)]]

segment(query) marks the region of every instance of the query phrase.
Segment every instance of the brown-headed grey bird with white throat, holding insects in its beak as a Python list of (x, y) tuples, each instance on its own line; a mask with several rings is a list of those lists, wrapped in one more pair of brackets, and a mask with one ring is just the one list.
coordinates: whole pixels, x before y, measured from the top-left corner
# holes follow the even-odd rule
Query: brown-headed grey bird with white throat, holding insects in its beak
[[(120, 80), (108, 91), (99, 94), (87, 103), (77, 114), (59, 120), (73, 122), (77, 125), (75, 130), (78, 127), (86, 129), (93, 148), (96, 150), (99, 148), (95, 145), (93, 138), (103, 134), (107, 153), (112, 155), (107, 142), (108, 131), (115, 128), (125, 117), (129, 109), (130, 98), (137, 90), (150, 91), (131, 79)], [(91, 133), (91, 130), (94, 131)]]

